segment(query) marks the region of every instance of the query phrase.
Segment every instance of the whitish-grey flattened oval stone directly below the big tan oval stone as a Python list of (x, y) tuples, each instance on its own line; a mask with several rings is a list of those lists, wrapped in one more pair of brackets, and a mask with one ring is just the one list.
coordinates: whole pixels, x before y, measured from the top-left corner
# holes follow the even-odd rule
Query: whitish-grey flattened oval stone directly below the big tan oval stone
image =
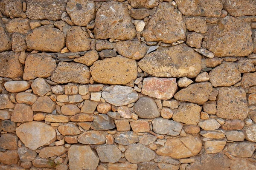
[(102, 92), (102, 97), (115, 106), (128, 105), (139, 99), (139, 95), (133, 88), (121, 85), (109, 86)]

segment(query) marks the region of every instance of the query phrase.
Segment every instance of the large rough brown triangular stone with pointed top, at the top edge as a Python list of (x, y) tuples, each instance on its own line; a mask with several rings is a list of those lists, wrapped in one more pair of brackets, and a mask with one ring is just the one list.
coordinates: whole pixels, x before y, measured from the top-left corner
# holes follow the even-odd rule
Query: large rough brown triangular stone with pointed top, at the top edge
[(186, 25), (182, 14), (171, 3), (160, 3), (157, 11), (148, 21), (143, 37), (145, 41), (162, 41), (172, 43), (186, 40)]

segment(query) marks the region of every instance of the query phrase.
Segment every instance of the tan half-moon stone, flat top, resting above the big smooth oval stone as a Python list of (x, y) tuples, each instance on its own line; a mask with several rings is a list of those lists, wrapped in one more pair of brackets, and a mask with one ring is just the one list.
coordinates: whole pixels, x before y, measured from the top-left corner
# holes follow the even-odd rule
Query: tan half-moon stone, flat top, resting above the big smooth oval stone
[(115, 47), (118, 54), (130, 59), (141, 59), (148, 51), (148, 46), (140, 41), (119, 41)]

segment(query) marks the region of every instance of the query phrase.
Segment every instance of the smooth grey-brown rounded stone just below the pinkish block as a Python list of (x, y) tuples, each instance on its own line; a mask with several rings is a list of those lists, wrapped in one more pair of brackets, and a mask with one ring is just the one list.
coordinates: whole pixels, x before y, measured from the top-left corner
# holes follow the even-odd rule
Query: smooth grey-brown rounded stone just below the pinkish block
[(157, 104), (154, 99), (148, 96), (140, 98), (134, 105), (134, 111), (140, 118), (152, 119), (160, 117)]

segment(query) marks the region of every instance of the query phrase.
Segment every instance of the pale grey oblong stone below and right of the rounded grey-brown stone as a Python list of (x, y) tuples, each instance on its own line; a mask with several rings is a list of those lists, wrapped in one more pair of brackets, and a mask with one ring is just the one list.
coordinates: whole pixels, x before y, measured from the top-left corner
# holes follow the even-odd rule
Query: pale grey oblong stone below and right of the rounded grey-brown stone
[(152, 121), (153, 131), (155, 133), (170, 135), (170, 136), (178, 136), (182, 129), (182, 124), (175, 122), (173, 120), (156, 118)]

